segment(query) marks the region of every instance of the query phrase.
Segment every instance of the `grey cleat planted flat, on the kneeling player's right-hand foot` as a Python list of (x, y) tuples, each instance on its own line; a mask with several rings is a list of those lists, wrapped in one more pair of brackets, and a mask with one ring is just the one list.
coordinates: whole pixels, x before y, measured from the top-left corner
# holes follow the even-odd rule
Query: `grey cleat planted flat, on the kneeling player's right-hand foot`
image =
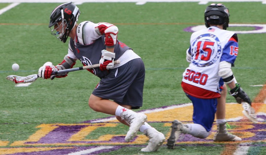
[(217, 132), (213, 137), (215, 142), (241, 141), (240, 137), (230, 134), (226, 130), (226, 122), (217, 125)]

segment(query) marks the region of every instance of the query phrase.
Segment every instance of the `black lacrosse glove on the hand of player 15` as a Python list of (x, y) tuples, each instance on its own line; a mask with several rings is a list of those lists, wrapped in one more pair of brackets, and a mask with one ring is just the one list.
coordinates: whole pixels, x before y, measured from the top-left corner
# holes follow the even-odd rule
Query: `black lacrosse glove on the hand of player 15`
[(231, 96), (235, 97), (235, 100), (237, 100), (237, 103), (241, 104), (242, 100), (244, 102), (247, 102), (251, 106), (251, 100), (247, 93), (243, 91), (243, 89), (240, 87), (240, 84), (235, 84), (235, 88), (228, 91)]

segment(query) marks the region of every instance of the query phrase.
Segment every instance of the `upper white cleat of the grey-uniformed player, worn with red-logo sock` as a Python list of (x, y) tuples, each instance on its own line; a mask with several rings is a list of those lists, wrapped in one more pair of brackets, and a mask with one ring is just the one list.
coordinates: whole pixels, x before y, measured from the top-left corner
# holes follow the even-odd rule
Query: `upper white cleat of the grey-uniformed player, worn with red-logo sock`
[(125, 137), (126, 142), (136, 137), (139, 128), (147, 121), (147, 116), (145, 114), (136, 113), (132, 110), (121, 113), (121, 118), (130, 124), (129, 131)]

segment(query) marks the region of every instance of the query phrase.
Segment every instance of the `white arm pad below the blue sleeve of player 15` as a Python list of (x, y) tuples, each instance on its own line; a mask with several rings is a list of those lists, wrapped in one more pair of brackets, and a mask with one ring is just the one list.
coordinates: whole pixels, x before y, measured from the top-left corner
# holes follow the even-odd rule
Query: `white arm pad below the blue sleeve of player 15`
[[(233, 75), (233, 71), (231, 69), (232, 64), (227, 62), (227, 61), (221, 61), (219, 63), (219, 71), (218, 71), (218, 75), (220, 77), (222, 77), (223, 79), (226, 79), (227, 77), (230, 77)], [(231, 82), (235, 81), (236, 79), (235, 77), (233, 77), (231, 80), (225, 82), (225, 84), (229, 84)]]

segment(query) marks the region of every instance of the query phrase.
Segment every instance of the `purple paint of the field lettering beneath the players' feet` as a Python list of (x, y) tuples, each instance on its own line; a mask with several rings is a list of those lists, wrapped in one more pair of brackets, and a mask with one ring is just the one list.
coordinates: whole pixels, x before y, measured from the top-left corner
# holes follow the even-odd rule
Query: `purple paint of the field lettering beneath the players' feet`
[[(180, 104), (179, 104), (180, 105)], [(161, 108), (168, 108), (170, 106), (164, 106)], [(158, 109), (158, 108), (153, 108), (153, 109)], [(153, 110), (153, 109), (149, 109), (149, 110)], [(142, 110), (139, 112), (144, 112), (146, 110)], [(111, 116), (108, 118), (114, 118), (115, 116)], [(258, 118), (263, 118), (266, 119), (266, 116), (264, 115), (260, 115), (258, 116)], [(101, 118), (101, 119), (97, 119), (97, 120), (103, 120), (106, 118)], [(83, 123), (89, 123), (95, 120), (88, 120), (86, 122)], [(241, 125), (241, 122), (243, 121), (234, 121), (234, 122), (238, 122), (239, 125)], [(107, 123), (107, 122), (105, 122)], [(113, 123), (113, 122), (112, 122)], [(161, 122), (162, 123), (162, 122)], [(244, 122), (243, 122), (244, 123)], [(243, 140), (254, 140), (254, 141), (259, 141), (259, 140), (265, 140), (266, 138), (266, 131), (258, 131), (260, 129), (265, 129), (266, 128), (266, 124), (252, 124), (254, 127), (251, 129), (247, 129), (247, 130), (233, 130), (233, 131), (241, 131), (241, 132), (253, 132), (255, 133), (255, 136), (250, 137), (250, 138), (242, 138)], [(73, 134), (76, 134), (77, 132), (79, 132), (82, 128), (85, 128), (87, 126), (91, 126), (89, 124), (86, 125), (72, 125), (72, 126), (68, 126), (68, 125), (57, 125), (58, 128), (55, 128), (53, 131), (49, 132), (48, 134), (46, 134), (44, 137), (42, 137), (38, 142), (26, 142), (26, 144), (55, 144), (55, 143), (65, 143), (65, 144), (73, 144), (75, 145), (76, 143), (83, 143), (83, 144), (97, 144), (99, 143), (99, 141), (92, 141), (92, 142), (87, 142), (87, 141), (73, 141), (73, 142), (69, 142), (67, 140), (69, 140), (69, 138), (71, 138), (71, 136)], [(95, 125), (92, 125), (95, 126)], [(99, 124), (99, 126), (102, 126)], [(216, 132), (215, 130), (213, 130), (212, 132)], [(133, 140), (131, 140), (131, 142), (134, 142), (137, 139), (137, 137), (135, 137)], [(105, 143), (119, 143), (119, 142), (125, 142), (125, 136), (113, 136), (113, 138), (111, 138), (111, 140), (109, 141), (101, 141), (101, 142), (105, 142)], [(177, 142), (178, 143), (176, 146), (223, 146), (223, 144), (210, 144), (210, 143), (205, 143), (205, 144), (196, 144), (197, 142), (213, 142), (213, 140), (206, 140), (206, 139), (200, 139), (200, 138), (195, 138), (189, 134), (186, 134), (183, 136), (183, 139), (179, 139)], [(182, 144), (182, 142), (192, 142), (192, 144)], [(195, 142), (193, 144), (193, 142)], [(241, 146), (248, 146), (249, 144), (239, 144)], [(113, 146), (113, 148), (111, 149), (104, 149), (104, 150), (99, 150), (99, 151), (95, 151), (92, 152), (91, 154), (99, 154), (99, 153), (103, 153), (103, 152), (109, 152), (109, 151), (113, 151), (113, 150), (117, 150), (120, 149), (122, 147), (146, 147), (146, 145), (111, 145)], [(254, 144), (250, 144), (250, 146), (254, 146)], [(256, 144), (256, 146), (266, 146), (266, 144)], [(91, 148), (96, 148), (97, 146), (69, 146), (69, 147), (74, 147), (74, 148), (65, 148), (65, 149), (58, 149), (58, 150), (50, 150), (50, 151), (38, 151), (38, 152), (21, 152), (21, 153), (15, 153), (12, 155), (65, 155), (65, 154), (69, 154), (69, 153), (73, 153), (73, 152), (78, 152), (78, 151), (82, 151), (82, 150), (87, 150), (87, 149), (91, 149)], [(166, 147), (166, 146), (162, 146), (162, 147)], [(11, 155), (11, 154), (10, 154)], [(90, 154), (87, 154), (90, 155)]]

